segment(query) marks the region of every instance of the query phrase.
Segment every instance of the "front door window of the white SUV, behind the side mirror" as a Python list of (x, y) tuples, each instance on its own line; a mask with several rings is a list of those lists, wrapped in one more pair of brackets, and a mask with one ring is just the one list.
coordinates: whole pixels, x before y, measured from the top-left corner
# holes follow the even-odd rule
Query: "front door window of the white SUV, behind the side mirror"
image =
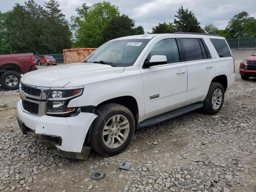
[(163, 39), (159, 41), (150, 52), (150, 57), (153, 55), (165, 55), (168, 64), (180, 62), (178, 46), (175, 39)]

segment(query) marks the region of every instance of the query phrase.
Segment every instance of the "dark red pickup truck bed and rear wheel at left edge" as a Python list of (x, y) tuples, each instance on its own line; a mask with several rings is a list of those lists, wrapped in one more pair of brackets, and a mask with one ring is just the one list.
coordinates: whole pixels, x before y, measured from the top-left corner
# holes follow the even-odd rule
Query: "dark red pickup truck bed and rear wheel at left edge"
[(0, 55), (0, 84), (8, 89), (19, 88), (20, 74), (37, 70), (33, 53)]

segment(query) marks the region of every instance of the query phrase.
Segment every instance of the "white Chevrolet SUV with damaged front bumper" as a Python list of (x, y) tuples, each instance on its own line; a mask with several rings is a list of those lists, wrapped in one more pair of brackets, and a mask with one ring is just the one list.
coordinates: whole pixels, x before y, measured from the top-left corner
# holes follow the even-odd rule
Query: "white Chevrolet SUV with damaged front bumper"
[(202, 108), (216, 114), (234, 83), (225, 38), (178, 32), (111, 40), (83, 62), (21, 78), (18, 122), (52, 152), (118, 154), (134, 130)]

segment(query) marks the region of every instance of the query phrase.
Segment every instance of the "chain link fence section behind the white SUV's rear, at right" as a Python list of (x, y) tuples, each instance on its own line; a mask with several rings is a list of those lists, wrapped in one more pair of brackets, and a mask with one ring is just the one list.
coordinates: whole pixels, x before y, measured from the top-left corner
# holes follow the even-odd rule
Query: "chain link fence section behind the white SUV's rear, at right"
[(227, 39), (230, 48), (256, 47), (256, 37)]

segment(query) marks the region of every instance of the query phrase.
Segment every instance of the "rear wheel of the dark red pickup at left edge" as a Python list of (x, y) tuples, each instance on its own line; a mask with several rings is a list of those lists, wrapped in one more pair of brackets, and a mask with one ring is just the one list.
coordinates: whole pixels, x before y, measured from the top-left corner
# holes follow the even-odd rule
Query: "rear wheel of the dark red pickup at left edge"
[(0, 82), (7, 90), (16, 90), (20, 84), (20, 74), (16, 71), (6, 71), (2, 74)]

